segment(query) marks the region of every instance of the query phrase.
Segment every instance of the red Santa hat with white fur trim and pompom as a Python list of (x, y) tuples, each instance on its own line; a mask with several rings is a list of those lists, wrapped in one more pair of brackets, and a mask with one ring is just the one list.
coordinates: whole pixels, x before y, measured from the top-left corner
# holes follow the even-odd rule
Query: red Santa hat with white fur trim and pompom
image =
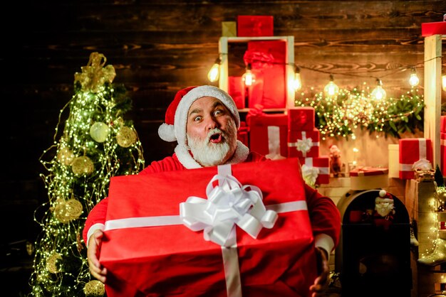
[[(195, 100), (202, 97), (214, 97), (220, 100), (222, 104), (231, 112), (234, 118), (237, 129), (240, 127), (240, 116), (237, 106), (232, 97), (224, 90), (214, 87), (212, 85), (203, 85), (199, 87), (187, 87), (177, 92), (175, 98), (167, 107), (165, 115), (165, 123), (161, 124), (158, 128), (158, 135), (165, 141), (177, 141), (178, 145), (175, 148), (175, 153), (180, 162), (186, 168), (198, 168), (201, 167), (193, 160), (188, 152), (186, 144), (186, 124), (187, 113), (190, 106)], [(239, 142), (239, 141), (237, 141)], [(234, 162), (244, 161), (247, 158), (249, 149), (246, 146), (240, 146), (237, 144), (236, 156), (234, 156)]]

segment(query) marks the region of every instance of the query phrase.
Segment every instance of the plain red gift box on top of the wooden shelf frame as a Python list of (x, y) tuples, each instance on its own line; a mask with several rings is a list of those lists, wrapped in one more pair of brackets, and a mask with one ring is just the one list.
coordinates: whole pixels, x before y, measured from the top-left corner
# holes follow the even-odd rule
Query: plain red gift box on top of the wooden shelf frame
[(237, 36), (274, 36), (274, 17), (237, 16)]

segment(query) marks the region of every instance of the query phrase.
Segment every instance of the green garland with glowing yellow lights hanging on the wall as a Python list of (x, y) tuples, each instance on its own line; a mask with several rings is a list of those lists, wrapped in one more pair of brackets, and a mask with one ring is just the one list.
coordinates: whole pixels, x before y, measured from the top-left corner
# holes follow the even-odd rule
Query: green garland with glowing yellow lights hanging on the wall
[(387, 138), (400, 138), (405, 132), (415, 133), (423, 129), (422, 95), (415, 88), (400, 98), (376, 100), (368, 89), (341, 89), (333, 96), (323, 92), (296, 95), (296, 107), (314, 107), (316, 127), (321, 139), (329, 137), (355, 139), (354, 130), (368, 130), (370, 134), (381, 133)]

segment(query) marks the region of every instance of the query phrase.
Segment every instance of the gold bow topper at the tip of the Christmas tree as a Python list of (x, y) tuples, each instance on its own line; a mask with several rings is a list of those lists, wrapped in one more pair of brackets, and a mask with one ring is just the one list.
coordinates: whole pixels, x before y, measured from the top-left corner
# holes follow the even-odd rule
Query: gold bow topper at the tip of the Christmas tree
[(91, 53), (88, 65), (81, 67), (82, 73), (74, 74), (74, 82), (81, 82), (82, 90), (98, 92), (99, 87), (105, 82), (113, 82), (116, 76), (115, 68), (112, 65), (105, 65), (107, 58), (101, 53)]

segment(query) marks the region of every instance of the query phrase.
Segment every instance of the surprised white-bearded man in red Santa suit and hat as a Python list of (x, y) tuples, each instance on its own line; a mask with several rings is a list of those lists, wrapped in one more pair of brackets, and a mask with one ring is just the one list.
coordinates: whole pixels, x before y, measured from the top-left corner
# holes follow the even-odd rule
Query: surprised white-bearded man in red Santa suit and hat
[[(153, 161), (139, 174), (266, 161), (264, 156), (249, 152), (249, 148), (237, 140), (239, 126), (238, 109), (227, 92), (209, 85), (180, 90), (167, 108), (165, 123), (158, 129), (161, 139), (177, 141), (175, 153), (161, 161)], [(341, 218), (330, 198), (308, 185), (305, 185), (305, 193), (319, 260), (318, 271), (321, 272), (309, 288), (316, 297), (323, 296), (328, 286), (328, 257), (338, 244)], [(90, 272), (103, 283), (107, 269), (101, 266), (98, 257), (107, 205), (105, 198), (93, 207), (83, 230)]]

